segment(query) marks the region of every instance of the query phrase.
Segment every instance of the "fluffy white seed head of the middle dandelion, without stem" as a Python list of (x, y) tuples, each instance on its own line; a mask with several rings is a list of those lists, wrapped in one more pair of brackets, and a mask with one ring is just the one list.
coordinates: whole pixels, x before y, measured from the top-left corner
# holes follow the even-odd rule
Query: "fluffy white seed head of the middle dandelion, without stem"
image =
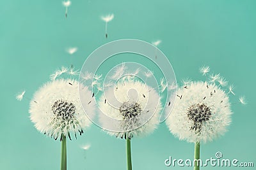
[[(106, 96), (110, 96), (108, 102), (105, 95), (100, 97), (99, 108), (104, 113), (100, 114), (102, 127), (109, 127), (108, 118), (111, 117), (120, 120), (110, 124), (120, 131), (107, 131), (116, 138), (131, 139), (153, 132), (159, 124), (162, 107), (157, 92), (151, 87), (145, 88), (145, 84), (140, 81), (118, 82), (116, 87), (114, 95), (113, 89), (106, 90)], [(131, 89), (136, 89), (136, 93), (127, 96)]]

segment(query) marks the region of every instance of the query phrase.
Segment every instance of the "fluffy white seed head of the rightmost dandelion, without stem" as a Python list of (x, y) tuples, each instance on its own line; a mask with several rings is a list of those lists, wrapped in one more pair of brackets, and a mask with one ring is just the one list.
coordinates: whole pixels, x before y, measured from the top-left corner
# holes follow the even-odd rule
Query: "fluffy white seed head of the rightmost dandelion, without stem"
[[(200, 143), (223, 135), (232, 111), (225, 91), (214, 84), (191, 82), (177, 90), (177, 100), (166, 120), (170, 132), (180, 140)], [(170, 108), (166, 108), (170, 112)]]

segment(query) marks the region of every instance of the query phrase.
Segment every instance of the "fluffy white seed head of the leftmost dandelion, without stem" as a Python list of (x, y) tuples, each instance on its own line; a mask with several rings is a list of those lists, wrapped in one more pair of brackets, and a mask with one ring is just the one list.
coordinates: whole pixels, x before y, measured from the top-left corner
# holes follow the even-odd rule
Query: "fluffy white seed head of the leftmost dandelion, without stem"
[[(79, 99), (79, 84), (76, 80), (56, 80), (45, 83), (34, 95), (30, 103), (30, 118), (39, 132), (51, 138), (62, 140), (70, 134), (83, 134), (92, 122), (86, 117), (81, 103), (89, 103), (92, 92), (88, 87), (81, 88), (81, 103)], [(36, 103), (34, 102), (36, 101)], [(94, 101), (94, 100), (93, 100)], [(86, 110), (95, 110), (93, 105), (86, 105)], [(86, 111), (85, 110), (85, 111)]]

